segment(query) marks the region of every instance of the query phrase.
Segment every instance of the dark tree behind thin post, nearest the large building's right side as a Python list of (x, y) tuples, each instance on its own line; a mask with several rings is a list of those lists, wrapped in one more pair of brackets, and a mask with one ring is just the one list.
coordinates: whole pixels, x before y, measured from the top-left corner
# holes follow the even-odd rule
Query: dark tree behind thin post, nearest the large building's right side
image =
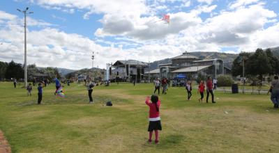
[[(247, 52), (241, 52), (239, 56), (237, 56), (233, 63), (232, 63), (232, 76), (236, 77), (240, 75), (242, 77), (243, 75), (243, 59), (244, 59), (244, 69), (247, 70), (247, 64), (249, 61), (251, 54)], [(247, 75), (247, 72), (244, 74)]]

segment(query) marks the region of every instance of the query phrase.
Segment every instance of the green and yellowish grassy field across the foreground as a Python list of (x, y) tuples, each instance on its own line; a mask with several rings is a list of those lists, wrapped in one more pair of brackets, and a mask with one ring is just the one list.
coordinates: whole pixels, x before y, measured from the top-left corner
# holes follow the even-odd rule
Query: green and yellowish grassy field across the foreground
[[(186, 100), (184, 88), (160, 95), (163, 131), (160, 144), (148, 144), (147, 95), (152, 84), (130, 83), (93, 90), (88, 104), (81, 84), (65, 86), (66, 97), (54, 96), (54, 85), (37, 91), (0, 83), (0, 129), (13, 152), (278, 152), (279, 110), (267, 95), (216, 92), (217, 104), (199, 103), (197, 90)], [(103, 106), (112, 100), (113, 106)]]

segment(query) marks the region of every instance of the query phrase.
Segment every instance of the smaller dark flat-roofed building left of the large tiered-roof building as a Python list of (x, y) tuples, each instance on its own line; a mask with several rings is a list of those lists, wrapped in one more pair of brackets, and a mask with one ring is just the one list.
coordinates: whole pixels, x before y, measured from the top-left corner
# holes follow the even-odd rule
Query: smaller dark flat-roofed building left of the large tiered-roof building
[(118, 77), (121, 80), (141, 82), (144, 80), (144, 69), (149, 67), (148, 63), (128, 60), (116, 61), (112, 67), (114, 70), (110, 79)]

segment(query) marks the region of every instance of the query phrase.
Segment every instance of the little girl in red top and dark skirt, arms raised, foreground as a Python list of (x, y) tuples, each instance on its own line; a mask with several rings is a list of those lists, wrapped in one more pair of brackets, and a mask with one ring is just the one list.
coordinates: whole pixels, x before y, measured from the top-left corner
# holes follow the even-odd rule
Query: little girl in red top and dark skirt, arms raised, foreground
[[(151, 102), (150, 102), (151, 100)], [(160, 100), (157, 95), (152, 95), (151, 97), (146, 97), (145, 104), (149, 106), (149, 140), (152, 142), (153, 131), (155, 131), (155, 143), (159, 143), (159, 132), (162, 130), (161, 121), (160, 121)]]

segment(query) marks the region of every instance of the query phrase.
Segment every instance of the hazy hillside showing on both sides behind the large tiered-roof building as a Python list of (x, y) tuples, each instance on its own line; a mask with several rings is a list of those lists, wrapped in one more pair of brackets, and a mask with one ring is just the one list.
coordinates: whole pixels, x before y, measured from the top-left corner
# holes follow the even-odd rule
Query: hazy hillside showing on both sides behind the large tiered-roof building
[[(227, 53), (220, 53), (220, 52), (202, 52), (202, 51), (189, 52), (189, 54), (192, 56), (197, 56), (201, 60), (220, 58), (221, 60), (224, 61), (224, 65), (226, 67), (232, 67), (232, 62), (234, 61), (234, 58), (238, 56), (238, 54), (227, 54)], [(157, 69), (158, 65), (167, 64), (167, 63), (172, 63), (172, 58), (165, 58), (163, 60), (154, 61), (153, 63), (150, 63), (150, 70)]]

